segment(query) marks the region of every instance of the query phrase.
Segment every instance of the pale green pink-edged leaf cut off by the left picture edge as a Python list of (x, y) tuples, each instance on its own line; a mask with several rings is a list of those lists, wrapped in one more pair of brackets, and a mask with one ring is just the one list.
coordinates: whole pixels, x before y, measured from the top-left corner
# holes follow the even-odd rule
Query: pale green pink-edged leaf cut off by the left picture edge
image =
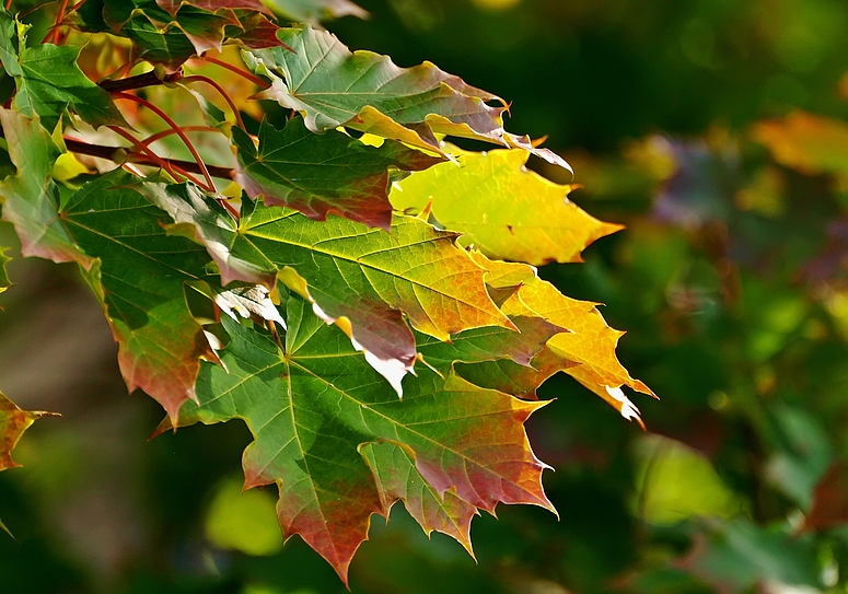
[(0, 183), (3, 220), (14, 224), (24, 256), (57, 263), (90, 261), (74, 246), (59, 219), (59, 190), (50, 175), (59, 149), (37, 116), (0, 108), (3, 137), (18, 173)]

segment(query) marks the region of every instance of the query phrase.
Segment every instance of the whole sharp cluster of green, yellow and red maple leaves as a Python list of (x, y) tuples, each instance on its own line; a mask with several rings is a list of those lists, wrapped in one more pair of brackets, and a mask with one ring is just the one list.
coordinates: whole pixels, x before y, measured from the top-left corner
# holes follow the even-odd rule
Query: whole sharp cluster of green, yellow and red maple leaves
[[(397, 501), (471, 551), (478, 510), (554, 511), (524, 432), (547, 377), (637, 420), (622, 386), (651, 394), (595, 304), (530, 266), (620, 226), (526, 170), (568, 164), (499, 97), (310, 24), (355, 4), (268, 7), (86, 0), (40, 44), (0, 11), (3, 220), (24, 256), (80, 266), (160, 431), (248, 426), (245, 487), (276, 484), (283, 533), (342, 580)], [(0, 469), (37, 416), (0, 397)]]

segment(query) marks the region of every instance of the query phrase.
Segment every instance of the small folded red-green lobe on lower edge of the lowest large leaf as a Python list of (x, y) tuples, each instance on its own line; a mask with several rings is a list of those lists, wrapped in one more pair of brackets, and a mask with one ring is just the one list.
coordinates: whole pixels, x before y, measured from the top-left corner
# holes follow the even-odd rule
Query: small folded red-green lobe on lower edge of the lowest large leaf
[(369, 443), (359, 450), (374, 473), (384, 510), (403, 501), (406, 511), (429, 536), (433, 531), (455, 538), (469, 555), (472, 520), (477, 509), (453, 490), (438, 493), (415, 466), (415, 455), (394, 443)]

